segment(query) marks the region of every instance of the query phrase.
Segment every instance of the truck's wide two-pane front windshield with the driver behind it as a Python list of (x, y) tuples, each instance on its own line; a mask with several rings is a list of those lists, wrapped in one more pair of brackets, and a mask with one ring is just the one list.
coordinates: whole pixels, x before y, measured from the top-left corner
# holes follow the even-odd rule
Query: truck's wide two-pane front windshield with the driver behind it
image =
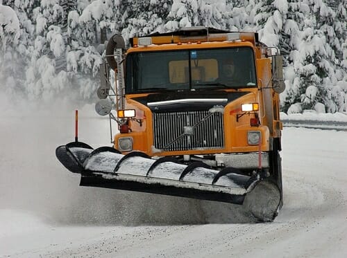
[(256, 86), (252, 48), (129, 53), (126, 93)]

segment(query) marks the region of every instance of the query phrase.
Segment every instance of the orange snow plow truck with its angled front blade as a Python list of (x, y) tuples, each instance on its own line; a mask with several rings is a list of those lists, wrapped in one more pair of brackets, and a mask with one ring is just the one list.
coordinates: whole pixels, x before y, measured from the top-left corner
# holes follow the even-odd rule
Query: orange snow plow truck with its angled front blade
[[(110, 37), (95, 109), (117, 122), (112, 147), (56, 149), (81, 185), (282, 208), (282, 55), (257, 33), (183, 28)], [(115, 71), (110, 82), (110, 71)], [(111, 129), (112, 135), (112, 129)]]

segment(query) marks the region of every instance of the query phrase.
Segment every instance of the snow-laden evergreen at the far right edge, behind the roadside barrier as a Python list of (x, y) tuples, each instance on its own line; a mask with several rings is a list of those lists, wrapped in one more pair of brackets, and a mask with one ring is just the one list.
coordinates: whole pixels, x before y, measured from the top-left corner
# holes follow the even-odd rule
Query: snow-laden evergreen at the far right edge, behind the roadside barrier
[[(335, 33), (336, 13), (323, 1), (303, 1), (299, 4), (304, 13), (301, 43), (291, 50), (293, 77), (289, 84), (285, 109), (300, 103), (302, 109), (314, 109), (317, 103), (328, 112), (344, 111), (345, 93), (341, 84), (346, 71), (342, 71), (335, 50), (341, 49)], [(309, 16), (310, 14), (313, 14)], [(310, 17), (310, 18), (307, 18)]]

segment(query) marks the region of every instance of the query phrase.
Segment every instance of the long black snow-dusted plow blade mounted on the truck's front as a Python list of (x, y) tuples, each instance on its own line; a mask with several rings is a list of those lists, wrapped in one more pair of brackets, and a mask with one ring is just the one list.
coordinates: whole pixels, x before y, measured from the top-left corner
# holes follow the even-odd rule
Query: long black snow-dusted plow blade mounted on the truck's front
[(234, 203), (244, 205), (259, 221), (273, 221), (278, 214), (276, 183), (237, 174), (232, 167), (218, 171), (202, 162), (155, 160), (139, 151), (123, 155), (112, 147), (93, 149), (83, 142), (58, 147), (56, 156), (69, 171), (81, 174), (82, 186)]

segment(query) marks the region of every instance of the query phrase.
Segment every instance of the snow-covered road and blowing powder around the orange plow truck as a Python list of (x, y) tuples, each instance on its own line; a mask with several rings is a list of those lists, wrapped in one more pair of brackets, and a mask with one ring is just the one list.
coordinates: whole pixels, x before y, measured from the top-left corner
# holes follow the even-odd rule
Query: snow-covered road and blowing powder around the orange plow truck
[[(273, 223), (240, 223), (232, 206), (78, 187), (55, 157), (74, 140), (76, 107), (62, 107), (1, 107), (0, 257), (347, 257), (346, 131), (285, 128), (285, 205)], [(110, 145), (92, 109), (79, 140)]]

